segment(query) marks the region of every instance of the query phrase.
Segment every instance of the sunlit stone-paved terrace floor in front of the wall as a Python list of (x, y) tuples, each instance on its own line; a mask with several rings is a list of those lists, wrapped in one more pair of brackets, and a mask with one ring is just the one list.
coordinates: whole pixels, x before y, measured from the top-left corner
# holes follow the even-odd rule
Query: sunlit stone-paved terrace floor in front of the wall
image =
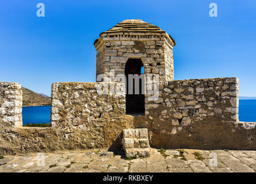
[[(6, 155), (0, 159), (0, 172), (255, 172), (256, 151), (234, 150), (166, 150), (151, 148), (150, 158), (124, 159), (122, 152), (87, 150), (45, 154), (45, 166), (37, 166), (40, 156)], [(194, 153), (198, 152), (200, 159)], [(217, 167), (211, 167), (209, 156), (217, 155)], [(163, 156), (165, 155), (165, 156)], [(175, 156), (178, 155), (178, 156)], [(214, 155), (214, 154), (212, 154)], [(185, 159), (184, 159), (185, 158)]]

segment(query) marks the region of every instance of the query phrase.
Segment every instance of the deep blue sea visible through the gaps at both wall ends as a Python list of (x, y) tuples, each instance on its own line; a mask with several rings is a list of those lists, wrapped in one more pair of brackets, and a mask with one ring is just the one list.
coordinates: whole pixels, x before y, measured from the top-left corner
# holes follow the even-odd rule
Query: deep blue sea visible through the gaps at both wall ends
[[(41, 124), (49, 123), (51, 116), (51, 106), (32, 106), (22, 108), (22, 121), (28, 123)], [(239, 100), (239, 120), (247, 122), (256, 122), (256, 99)]]

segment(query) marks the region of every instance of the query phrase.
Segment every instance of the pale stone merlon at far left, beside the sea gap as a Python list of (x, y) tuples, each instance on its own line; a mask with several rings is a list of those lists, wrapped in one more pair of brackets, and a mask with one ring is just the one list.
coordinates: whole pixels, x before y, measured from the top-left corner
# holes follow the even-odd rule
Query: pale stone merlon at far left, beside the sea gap
[(0, 82), (0, 131), (22, 126), (21, 85)]

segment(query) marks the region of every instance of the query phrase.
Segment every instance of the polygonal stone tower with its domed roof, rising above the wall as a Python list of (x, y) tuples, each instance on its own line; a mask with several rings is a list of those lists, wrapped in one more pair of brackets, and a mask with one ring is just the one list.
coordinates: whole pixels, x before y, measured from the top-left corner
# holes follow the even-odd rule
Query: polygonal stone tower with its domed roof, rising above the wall
[[(94, 42), (97, 51), (96, 75), (158, 74), (159, 82), (173, 81), (175, 41), (164, 30), (142, 20), (124, 20), (102, 32)], [(128, 68), (128, 69), (126, 69)], [(100, 80), (97, 79), (97, 82)]]

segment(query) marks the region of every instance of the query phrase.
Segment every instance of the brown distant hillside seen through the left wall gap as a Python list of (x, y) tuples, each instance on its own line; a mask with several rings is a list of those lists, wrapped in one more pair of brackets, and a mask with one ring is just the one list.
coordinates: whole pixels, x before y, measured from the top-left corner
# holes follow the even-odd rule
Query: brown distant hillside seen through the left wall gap
[(39, 106), (51, 105), (51, 98), (44, 97), (34, 91), (21, 87), (22, 89), (22, 104), (23, 106)]

